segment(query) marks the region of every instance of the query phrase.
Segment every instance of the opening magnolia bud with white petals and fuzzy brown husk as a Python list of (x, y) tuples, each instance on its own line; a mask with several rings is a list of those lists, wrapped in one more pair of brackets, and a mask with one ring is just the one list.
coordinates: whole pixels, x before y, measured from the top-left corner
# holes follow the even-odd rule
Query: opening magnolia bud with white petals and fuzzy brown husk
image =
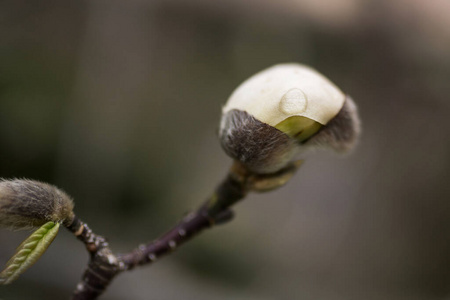
[(299, 64), (276, 65), (242, 83), (223, 107), (219, 130), (225, 152), (257, 174), (277, 172), (313, 146), (349, 150), (358, 134), (351, 98)]

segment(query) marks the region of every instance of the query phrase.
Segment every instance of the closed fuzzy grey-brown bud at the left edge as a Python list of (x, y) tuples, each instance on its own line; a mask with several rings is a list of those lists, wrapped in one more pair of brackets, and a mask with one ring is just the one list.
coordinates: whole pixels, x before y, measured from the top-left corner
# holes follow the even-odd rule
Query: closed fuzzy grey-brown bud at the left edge
[(33, 180), (0, 181), (0, 227), (21, 230), (47, 222), (70, 223), (73, 218), (72, 199), (55, 186)]

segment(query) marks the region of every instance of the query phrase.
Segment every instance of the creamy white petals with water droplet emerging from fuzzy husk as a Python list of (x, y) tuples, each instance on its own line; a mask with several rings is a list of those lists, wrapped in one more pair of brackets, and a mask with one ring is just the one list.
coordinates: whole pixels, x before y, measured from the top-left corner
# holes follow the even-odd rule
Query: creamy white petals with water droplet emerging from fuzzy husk
[(344, 101), (344, 93), (317, 71), (300, 64), (281, 64), (242, 83), (231, 94), (223, 113), (243, 110), (271, 126), (291, 116), (325, 125), (337, 115)]

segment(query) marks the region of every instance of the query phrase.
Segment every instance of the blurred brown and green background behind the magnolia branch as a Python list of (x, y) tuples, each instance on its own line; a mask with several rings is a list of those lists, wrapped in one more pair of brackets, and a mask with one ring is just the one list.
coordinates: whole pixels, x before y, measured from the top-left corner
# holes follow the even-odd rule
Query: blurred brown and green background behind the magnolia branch
[[(112, 248), (198, 206), (231, 160), (216, 136), (233, 89), (311, 65), (359, 105), (344, 158), (284, 188), (102, 299), (450, 299), (450, 2), (0, 2), (0, 177), (55, 184)], [(3, 265), (29, 232), (0, 231)], [(62, 230), (0, 299), (68, 299), (86, 265)]]

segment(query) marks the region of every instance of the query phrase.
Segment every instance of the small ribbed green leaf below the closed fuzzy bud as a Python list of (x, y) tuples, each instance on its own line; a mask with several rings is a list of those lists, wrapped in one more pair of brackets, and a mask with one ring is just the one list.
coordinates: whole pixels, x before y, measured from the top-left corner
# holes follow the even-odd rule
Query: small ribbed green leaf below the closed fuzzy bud
[(0, 284), (10, 284), (37, 262), (55, 239), (58, 230), (59, 223), (48, 222), (23, 241), (0, 273)]

